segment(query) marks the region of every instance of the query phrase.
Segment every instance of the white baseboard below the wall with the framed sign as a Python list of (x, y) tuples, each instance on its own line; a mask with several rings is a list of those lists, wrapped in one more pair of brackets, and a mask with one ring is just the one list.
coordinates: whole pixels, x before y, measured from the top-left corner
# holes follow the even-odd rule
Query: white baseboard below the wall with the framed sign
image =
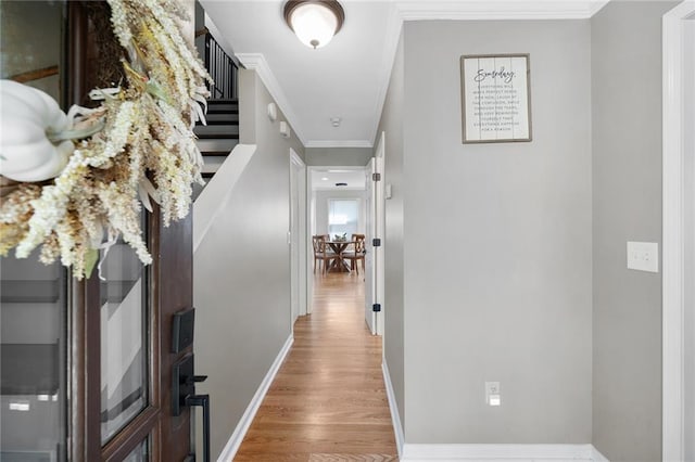
[(608, 462), (592, 445), (410, 445), (401, 461)]

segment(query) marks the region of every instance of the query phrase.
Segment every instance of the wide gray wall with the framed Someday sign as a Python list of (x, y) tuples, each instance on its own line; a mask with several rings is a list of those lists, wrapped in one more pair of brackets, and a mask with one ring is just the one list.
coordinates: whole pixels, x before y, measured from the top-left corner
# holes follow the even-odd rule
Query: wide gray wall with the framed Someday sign
[[(408, 442), (591, 441), (590, 33), (404, 25), (403, 215), (387, 221), (403, 219)], [(531, 54), (533, 142), (463, 145), (459, 56), (504, 52)]]

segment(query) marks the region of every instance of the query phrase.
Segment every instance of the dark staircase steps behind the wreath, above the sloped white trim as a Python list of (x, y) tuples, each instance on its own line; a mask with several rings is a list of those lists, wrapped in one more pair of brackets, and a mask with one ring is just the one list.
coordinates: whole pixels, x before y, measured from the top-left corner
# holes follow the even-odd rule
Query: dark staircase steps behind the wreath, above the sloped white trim
[[(203, 154), (203, 178), (207, 181), (239, 144), (238, 100), (208, 100), (205, 119), (207, 125), (198, 123), (193, 132)], [(194, 187), (193, 198), (198, 197), (202, 189), (200, 185)]]

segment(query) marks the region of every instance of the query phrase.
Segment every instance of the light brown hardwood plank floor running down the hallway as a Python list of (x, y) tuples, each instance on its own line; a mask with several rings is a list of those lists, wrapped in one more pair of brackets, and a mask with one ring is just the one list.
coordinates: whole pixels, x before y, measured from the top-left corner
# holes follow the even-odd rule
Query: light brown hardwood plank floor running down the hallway
[(294, 324), (292, 349), (235, 461), (397, 461), (363, 275), (317, 274), (314, 287), (314, 312)]

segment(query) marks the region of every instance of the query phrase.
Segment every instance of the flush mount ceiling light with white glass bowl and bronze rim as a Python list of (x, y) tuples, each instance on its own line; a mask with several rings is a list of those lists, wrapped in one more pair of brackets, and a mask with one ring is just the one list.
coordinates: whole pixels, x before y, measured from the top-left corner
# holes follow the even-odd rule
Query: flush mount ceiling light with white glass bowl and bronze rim
[(302, 43), (317, 49), (338, 34), (345, 12), (337, 0), (290, 0), (285, 4), (285, 21)]

